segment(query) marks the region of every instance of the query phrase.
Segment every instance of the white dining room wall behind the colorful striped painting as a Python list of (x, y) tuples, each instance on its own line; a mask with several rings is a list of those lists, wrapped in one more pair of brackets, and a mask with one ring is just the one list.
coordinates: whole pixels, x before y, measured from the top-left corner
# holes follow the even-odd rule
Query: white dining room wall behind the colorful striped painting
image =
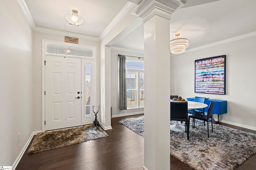
[[(209, 96), (227, 100), (228, 113), (220, 115), (224, 123), (256, 130), (255, 104), (256, 36), (171, 55), (171, 94), (183, 98)], [(194, 61), (226, 55), (226, 95), (194, 93)]]

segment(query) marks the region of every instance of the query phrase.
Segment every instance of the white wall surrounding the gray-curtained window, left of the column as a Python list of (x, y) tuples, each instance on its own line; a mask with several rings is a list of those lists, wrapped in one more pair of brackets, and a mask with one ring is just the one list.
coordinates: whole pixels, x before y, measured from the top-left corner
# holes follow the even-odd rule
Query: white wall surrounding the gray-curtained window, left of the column
[[(128, 109), (124, 111), (119, 110), (119, 57), (120, 55), (129, 55), (135, 57), (144, 57), (142, 52), (128, 52), (128, 51), (119, 51), (111, 50), (111, 106), (112, 106), (112, 117), (132, 115), (136, 113), (144, 113), (144, 108), (139, 109)], [(126, 57), (127, 60), (138, 60), (134, 57)], [(143, 59), (140, 59), (143, 61)]]

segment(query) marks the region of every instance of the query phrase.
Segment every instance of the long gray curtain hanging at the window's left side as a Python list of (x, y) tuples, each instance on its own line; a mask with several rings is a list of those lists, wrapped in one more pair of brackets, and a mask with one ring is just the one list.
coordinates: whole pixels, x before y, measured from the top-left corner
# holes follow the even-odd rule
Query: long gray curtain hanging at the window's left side
[(119, 55), (119, 110), (127, 110), (126, 57)]

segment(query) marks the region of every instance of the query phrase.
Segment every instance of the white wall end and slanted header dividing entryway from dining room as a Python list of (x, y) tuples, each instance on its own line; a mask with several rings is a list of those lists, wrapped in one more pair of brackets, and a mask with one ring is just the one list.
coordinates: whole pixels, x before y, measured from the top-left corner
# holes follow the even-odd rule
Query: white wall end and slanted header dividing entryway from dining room
[[(110, 108), (111, 108), (111, 78), (110, 78), (110, 72), (111, 72), (111, 64), (110, 64), (110, 47), (120, 40), (123, 36), (127, 35), (129, 31), (132, 31), (134, 29), (134, 22), (136, 22), (136, 19), (138, 19), (138, 16), (132, 15), (132, 11), (136, 8), (136, 5), (132, 4), (131, 2), (128, 2), (126, 4), (126, 14), (118, 20), (118, 22), (111, 28), (111, 30), (103, 37), (100, 41), (100, 64), (101, 64), (101, 70), (100, 70), (100, 89), (101, 89), (101, 110), (102, 113), (99, 115), (102, 119), (102, 127), (107, 129), (112, 129), (111, 127), (111, 115), (110, 115)], [(130, 27), (129, 25), (132, 25)], [(138, 25), (137, 25), (138, 26)], [(127, 31), (127, 27), (128, 30)], [(124, 31), (126, 30), (126, 31)], [(126, 34), (124, 34), (125, 32)]]

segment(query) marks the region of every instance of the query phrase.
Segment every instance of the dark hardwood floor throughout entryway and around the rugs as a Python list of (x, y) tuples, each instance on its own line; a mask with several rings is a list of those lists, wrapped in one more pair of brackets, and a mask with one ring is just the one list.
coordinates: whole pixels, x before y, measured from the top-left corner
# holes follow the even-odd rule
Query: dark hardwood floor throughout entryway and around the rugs
[[(142, 170), (144, 165), (144, 138), (119, 123), (126, 118), (142, 117), (132, 115), (112, 118), (109, 137), (88, 141), (36, 154), (22, 156), (16, 170)], [(256, 133), (249, 129), (229, 126)], [(27, 151), (27, 150), (26, 150)], [(192, 170), (188, 165), (171, 155), (171, 170)], [(256, 169), (256, 154), (250, 156), (235, 170)]]

